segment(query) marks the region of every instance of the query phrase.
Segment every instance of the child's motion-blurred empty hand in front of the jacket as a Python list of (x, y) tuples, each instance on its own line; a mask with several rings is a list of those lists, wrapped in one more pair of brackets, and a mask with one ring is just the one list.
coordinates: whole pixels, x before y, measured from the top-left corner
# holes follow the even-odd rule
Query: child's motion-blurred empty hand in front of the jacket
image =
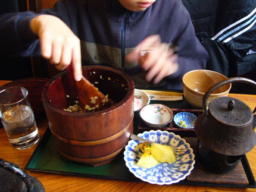
[[(142, 48), (154, 48), (145, 55), (141, 56)], [(159, 83), (164, 77), (175, 73), (178, 70), (178, 56), (168, 49), (166, 43), (161, 43), (160, 36), (152, 35), (146, 37), (135, 50), (126, 56), (127, 61), (139, 61), (143, 70), (148, 71), (146, 80), (154, 78), (154, 84)]]

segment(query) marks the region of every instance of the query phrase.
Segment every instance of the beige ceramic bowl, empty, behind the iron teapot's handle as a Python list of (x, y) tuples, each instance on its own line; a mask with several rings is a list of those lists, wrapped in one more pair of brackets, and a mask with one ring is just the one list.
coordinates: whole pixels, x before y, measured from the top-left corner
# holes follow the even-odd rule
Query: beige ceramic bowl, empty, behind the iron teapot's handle
[[(226, 80), (223, 74), (210, 70), (193, 70), (183, 75), (183, 93), (186, 100), (196, 108), (202, 108), (204, 93), (219, 81)], [(217, 97), (227, 96), (231, 89), (231, 83), (225, 84), (215, 90), (207, 99), (207, 106), (211, 100)]]

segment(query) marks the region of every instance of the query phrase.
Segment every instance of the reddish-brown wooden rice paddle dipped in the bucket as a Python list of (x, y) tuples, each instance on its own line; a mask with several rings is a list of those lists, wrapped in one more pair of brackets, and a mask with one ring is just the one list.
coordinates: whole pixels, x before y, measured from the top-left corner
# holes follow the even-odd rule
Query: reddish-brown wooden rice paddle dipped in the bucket
[[(66, 70), (70, 75), (73, 75), (73, 70), (71, 65), (69, 65)], [(93, 86), (90, 81), (88, 81), (85, 77), (82, 76), (80, 81), (75, 81), (77, 88), (77, 96), (79, 98), (79, 105), (85, 110), (85, 106), (89, 105), (91, 108), (101, 108), (104, 105), (107, 97), (103, 93), (101, 93), (95, 86)]]

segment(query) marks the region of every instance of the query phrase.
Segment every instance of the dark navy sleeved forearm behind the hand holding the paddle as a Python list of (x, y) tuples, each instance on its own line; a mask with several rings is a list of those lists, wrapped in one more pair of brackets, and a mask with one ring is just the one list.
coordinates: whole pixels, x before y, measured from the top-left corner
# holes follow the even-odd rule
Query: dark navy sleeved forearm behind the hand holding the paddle
[[(29, 28), (34, 12), (15, 12), (0, 15), (0, 54), (5, 56), (39, 56), (38, 37)], [(33, 47), (31, 47), (33, 46)]]

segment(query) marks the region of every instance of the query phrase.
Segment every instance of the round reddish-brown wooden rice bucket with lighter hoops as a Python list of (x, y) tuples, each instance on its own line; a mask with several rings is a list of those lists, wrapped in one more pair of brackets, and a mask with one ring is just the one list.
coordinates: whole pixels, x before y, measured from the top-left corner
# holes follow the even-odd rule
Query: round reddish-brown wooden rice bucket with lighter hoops
[(88, 66), (82, 71), (116, 105), (96, 112), (64, 111), (78, 100), (72, 77), (64, 72), (43, 87), (43, 106), (61, 157), (105, 165), (115, 159), (133, 133), (134, 83), (129, 75), (110, 67)]

